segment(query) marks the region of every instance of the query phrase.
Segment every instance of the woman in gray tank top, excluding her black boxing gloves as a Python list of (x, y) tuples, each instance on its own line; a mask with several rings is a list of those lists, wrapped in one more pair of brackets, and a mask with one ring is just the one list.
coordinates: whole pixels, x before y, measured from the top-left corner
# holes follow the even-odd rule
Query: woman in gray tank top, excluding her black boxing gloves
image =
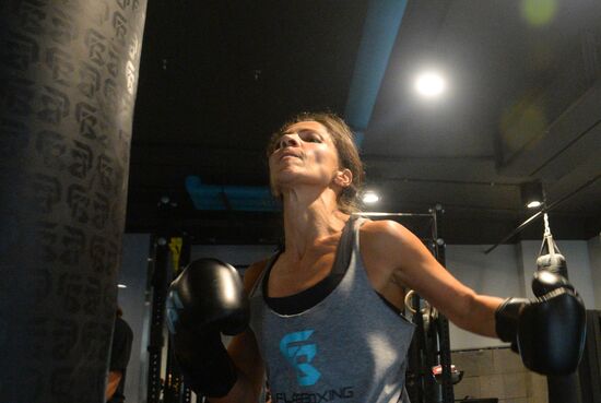
[[(285, 247), (245, 276), (251, 331), (236, 337), (229, 353), (247, 375), (246, 392), (260, 390), (266, 359), (273, 402), (399, 401), (413, 331), (398, 313), (405, 289), (416, 289), (463, 329), (496, 336), (502, 299), (459, 283), (402, 225), (352, 220), (363, 167), (341, 119), (302, 115), (273, 135), (268, 154), (272, 191), (283, 203)], [(352, 273), (344, 264), (334, 268), (344, 228), (361, 240), (345, 242), (346, 256), (339, 256), (340, 263), (356, 253)], [(360, 284), (344, 284), (350, 274)], [(334, 293), (341, 285), (344, 292)], [(236, 387), (244, 391), (243, 382)], [(237, 388), (228, 398), (235, 393)], [(224, 402), (245, 401), (237, 399)]]

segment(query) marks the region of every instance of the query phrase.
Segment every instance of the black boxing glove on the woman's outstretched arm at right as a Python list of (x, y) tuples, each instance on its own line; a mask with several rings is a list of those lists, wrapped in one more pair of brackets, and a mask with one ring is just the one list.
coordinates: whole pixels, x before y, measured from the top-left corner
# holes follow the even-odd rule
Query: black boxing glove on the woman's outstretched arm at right
[(497, 308), (497, 334), (530, 370), (571, 374), (585, 346), (585, 305), (565, 277), (549, 271), (534, 273), (532, 291), (534, 300), (508, 298)]

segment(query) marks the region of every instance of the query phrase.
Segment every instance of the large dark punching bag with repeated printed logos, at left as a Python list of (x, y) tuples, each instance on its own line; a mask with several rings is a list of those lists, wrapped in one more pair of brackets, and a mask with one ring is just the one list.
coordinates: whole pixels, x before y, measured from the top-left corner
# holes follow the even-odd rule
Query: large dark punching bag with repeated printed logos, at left
[(0, 3), (0, 402), (103, 403), (146, 1)]

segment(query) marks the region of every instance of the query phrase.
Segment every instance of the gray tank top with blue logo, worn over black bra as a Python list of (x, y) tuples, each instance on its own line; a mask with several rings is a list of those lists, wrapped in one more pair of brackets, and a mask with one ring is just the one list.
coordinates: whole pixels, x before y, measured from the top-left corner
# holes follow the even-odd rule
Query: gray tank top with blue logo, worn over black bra
[(386, 305), (367, 277), (360, 253), (363, 222), (351, 218), (345, 226), (334, 265), (347, 264), (346, 273), (314, 307), (284, 316), (266, 304), (261, 284), (276, 256), (250, 293), (250, 328), (273, 403), (397, 403), (406, 398), (414, 325)]

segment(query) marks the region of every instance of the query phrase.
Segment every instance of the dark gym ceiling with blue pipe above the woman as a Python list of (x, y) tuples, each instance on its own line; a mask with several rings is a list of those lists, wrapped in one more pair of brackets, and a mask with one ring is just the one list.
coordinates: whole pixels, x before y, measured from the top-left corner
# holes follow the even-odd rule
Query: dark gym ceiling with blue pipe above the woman
[[(448, 242), (495, 244), (533, 214), (520, 183), (541, 180), (555, 237), (597, 236), (600, 20), (596, 0), (149, 1), (126, 229), (155, 232), (168, 198), (195, 242), (275, 242), (280, 214), (226, 190), (267, 189), (270, 133), (331, 110), (381, 194), (365, 210), (439, 203)], [(414, 93), (425, 67), (446, 76), (438, 99)], [(195, 208), (189, 176), (224, 190), (221, 210)], [(427, 236), (428, 218), (401, 222)], [(538, 220), (510, 241), (541, 237)]]

